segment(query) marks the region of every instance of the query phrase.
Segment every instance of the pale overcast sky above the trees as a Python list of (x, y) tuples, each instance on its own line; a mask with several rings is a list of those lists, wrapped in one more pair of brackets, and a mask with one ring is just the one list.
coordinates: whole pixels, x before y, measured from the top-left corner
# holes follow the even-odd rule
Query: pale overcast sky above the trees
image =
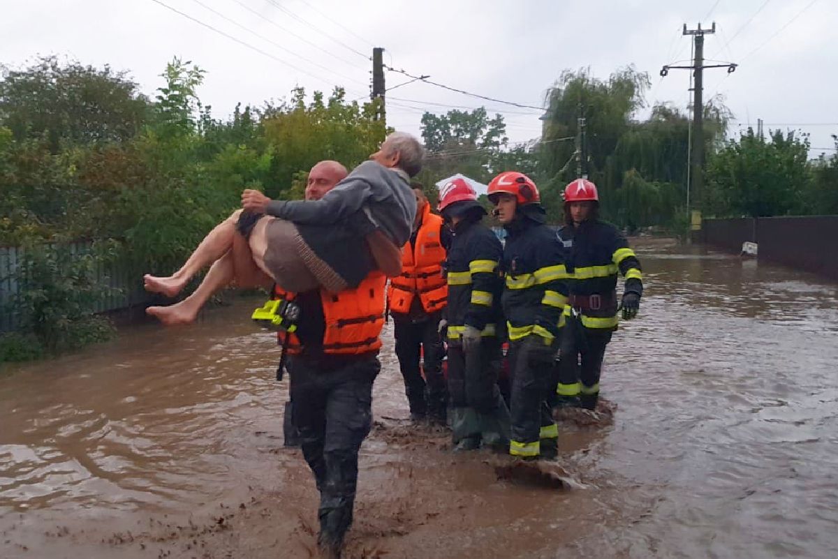
[[(737, 119), (732, 131), (762, 118), (768, 128), (809, 132), (816, 148), (834, 147), (830, 135), (838, 134), (838, 0), (0, 0), (0, 14), (2, 64), (19, 67), (39, 54), (110, 64), (153, 94), (177, 55), (207, 71), (199, 96), (220, 117), (237, 101), (261, 105), (294, 85), (344, 85), (350, 99), (369, 95), (373, 46), (384, 47), (385, 64), (396, 69), (533, 106), (563, 69), (589, 67), (607, 78), (634, 64), (649, 72), (650, 102), (683, 108), (688, 70), (664, 79), (658, 72), (688, 63), (684, 23), (715, 21), (706, 58), (741, 65), (730, 75), (707, 70), (705, 98), (724, 95)], [(385, 79), (388, 88), (406, 81), (393, 72)], [(450, 108), (429, 103), (509, 111), (510, 141), (541, 130), (536, 110), (421, 82), (388, 93), (388, 123), (418, 134), (424, 110)]]

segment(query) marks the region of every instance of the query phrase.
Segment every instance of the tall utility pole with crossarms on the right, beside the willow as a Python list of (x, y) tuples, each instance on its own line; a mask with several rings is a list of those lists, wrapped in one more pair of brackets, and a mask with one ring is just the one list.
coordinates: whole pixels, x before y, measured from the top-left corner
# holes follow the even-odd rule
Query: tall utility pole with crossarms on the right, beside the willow
[[(692, 229), (701, 229), (701, 191), (704, 187), (704, 70), (708, 68), (727, 68), (730, 74), (736, 70), (737, 64), (704, 64), (704, 36), (716, 33), (716, 22), (709, 29), (702, 29), (701, 23), (695, 29), (687, 29), (684, 24), (683, 35), (692, 35), (695, 55), (691, 66), (666, 65), (660, 69), (660, 76), (669, 74), (672, 68), (691, 69), (693, 71), (693, 100), (692, 100), (692, 149), (690, 152), (690, 182), (688, 188), (688, 202), (691, 206)], [(695, 201), (695, 202), (693, 202)]]

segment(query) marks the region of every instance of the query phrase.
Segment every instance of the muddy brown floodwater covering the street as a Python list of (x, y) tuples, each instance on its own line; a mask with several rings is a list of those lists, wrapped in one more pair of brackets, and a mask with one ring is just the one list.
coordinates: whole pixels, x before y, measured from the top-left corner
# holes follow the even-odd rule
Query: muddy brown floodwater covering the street
[[(499, 479), (503, 457), (411, 427), (388, 329), (345, 556), (838, 556), (838, 285), (637, 247), (647, 295), (604, 367), (613, 424), (560, 426), (575, 489)], [(255, 302), (8, 367), (0, 557), (316, 556)]]

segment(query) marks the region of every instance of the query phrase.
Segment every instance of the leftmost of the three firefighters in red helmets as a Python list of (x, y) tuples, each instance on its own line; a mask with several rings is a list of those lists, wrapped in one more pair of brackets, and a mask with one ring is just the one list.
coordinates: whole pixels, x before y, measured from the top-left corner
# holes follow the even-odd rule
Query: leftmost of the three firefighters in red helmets
[(462, 178), (440, 189), (439, 211), (451, 228), (446, 260), (448, 398), (455, 449), (505, 449), (510, 413), (498, 389), (503, 322), (498, 272), (503, 247), (482, 222), (486, 211)]

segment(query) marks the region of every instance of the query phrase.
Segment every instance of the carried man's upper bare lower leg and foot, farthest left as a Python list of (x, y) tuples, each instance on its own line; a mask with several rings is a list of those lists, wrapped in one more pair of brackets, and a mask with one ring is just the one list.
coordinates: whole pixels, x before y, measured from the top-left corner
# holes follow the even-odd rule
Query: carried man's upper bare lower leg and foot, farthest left
[(146, 290), (152, 293), (162, 293), (168, 297), (178, 295), (194, 274), (223, 257), (232, 248), (233, 239), (236, 236), (241, 237), (241, 235), (236, 235), (235, 231), (235, 223), (239, 220), (240, 214), (241, 210), (236, 210), (229, 218), (216, 225), (204, 237), (181, 269), (174, 274), (168, 277), (157, 277), (151, 274), (142, 276)]

